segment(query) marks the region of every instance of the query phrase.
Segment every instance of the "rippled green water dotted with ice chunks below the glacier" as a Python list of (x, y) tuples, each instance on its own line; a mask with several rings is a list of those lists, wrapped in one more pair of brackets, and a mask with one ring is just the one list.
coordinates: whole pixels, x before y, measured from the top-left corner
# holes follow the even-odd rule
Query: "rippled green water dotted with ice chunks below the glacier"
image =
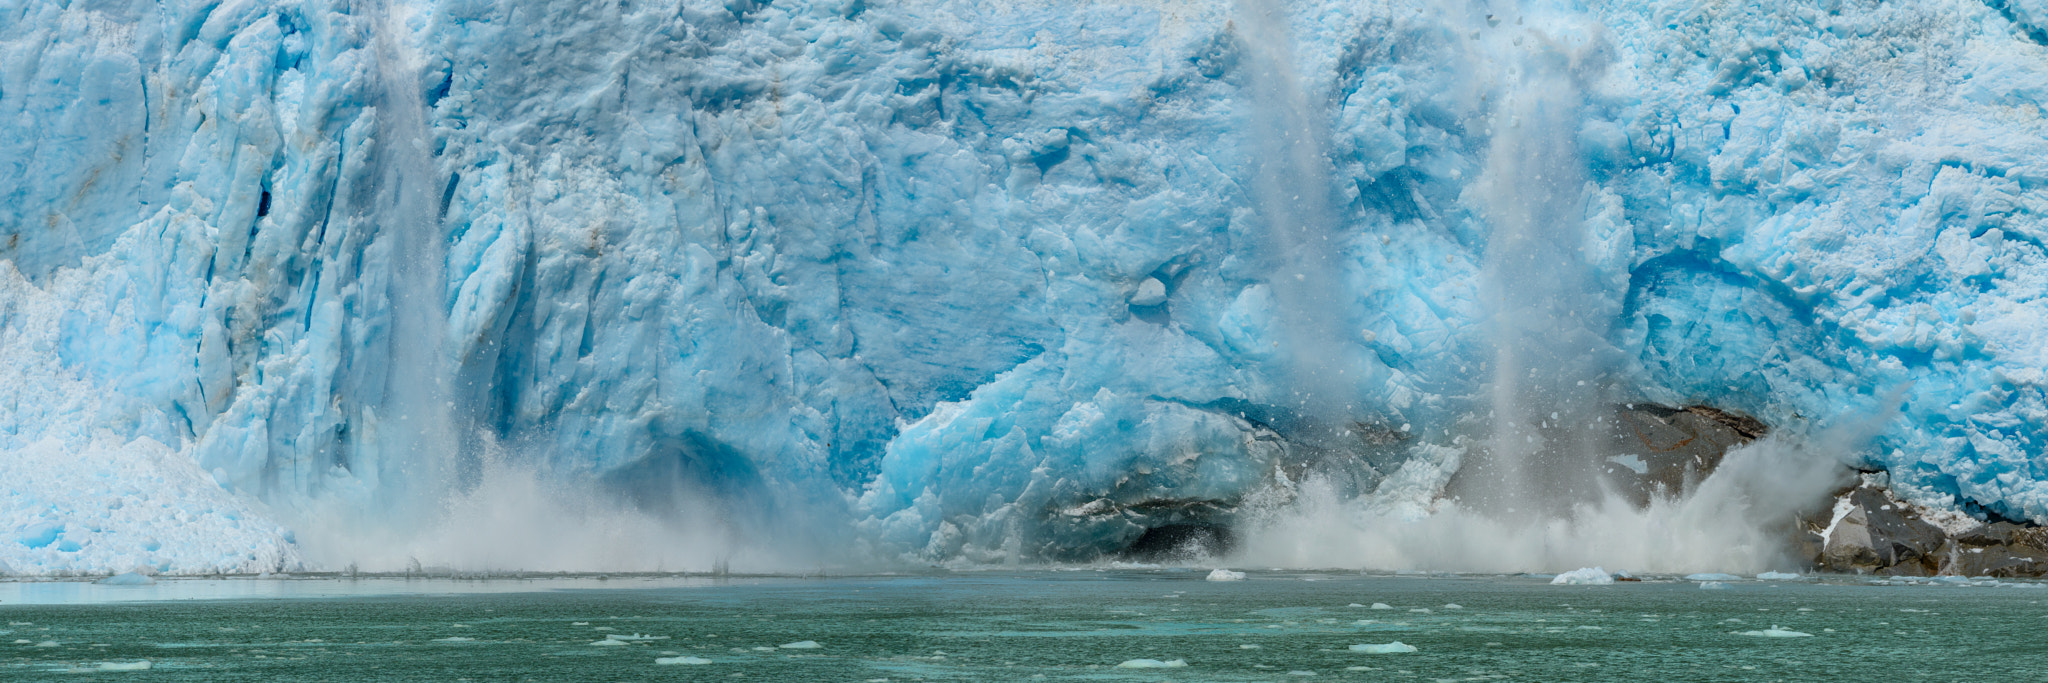
[[(137, 660), (152, 669), (86, 677), (2042, 681), (2044, 599), (2042, 589), (1860, 578), (1702, 591), (1683, 580), (1552, 587), (1518, 576), (1298, 572), (1208, 582), (1202, 572), (1174, 570), (10, 582), (0, 585), (0, 681), (76, 681), (80, 673), (68, 671)], [(1739, 634), (1772, 626), (1812, 638)], [(666, 640), (592, 644), (608, 634)], [(801, 640), (819, 648), (780, 648)], [(1417, 650), (1350, 650), (1393, 640)], [(655, 665), (664, 656), (711, 665)], [(1133, 658), (1186, 667), (1116, 669)]]

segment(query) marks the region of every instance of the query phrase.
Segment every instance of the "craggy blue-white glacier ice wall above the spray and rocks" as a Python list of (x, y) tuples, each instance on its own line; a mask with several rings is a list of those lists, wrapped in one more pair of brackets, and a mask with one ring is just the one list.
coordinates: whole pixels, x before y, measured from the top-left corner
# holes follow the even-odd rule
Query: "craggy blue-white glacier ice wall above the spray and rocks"
[(1503, 347), (1876, 418), (1849, 466), (2048, 523), (2044, 45), (2038, 0), (0, 0), (0, 572), (338, 564), (506, 464), (1087, 560), (1276, 478), (1427, 500)]

